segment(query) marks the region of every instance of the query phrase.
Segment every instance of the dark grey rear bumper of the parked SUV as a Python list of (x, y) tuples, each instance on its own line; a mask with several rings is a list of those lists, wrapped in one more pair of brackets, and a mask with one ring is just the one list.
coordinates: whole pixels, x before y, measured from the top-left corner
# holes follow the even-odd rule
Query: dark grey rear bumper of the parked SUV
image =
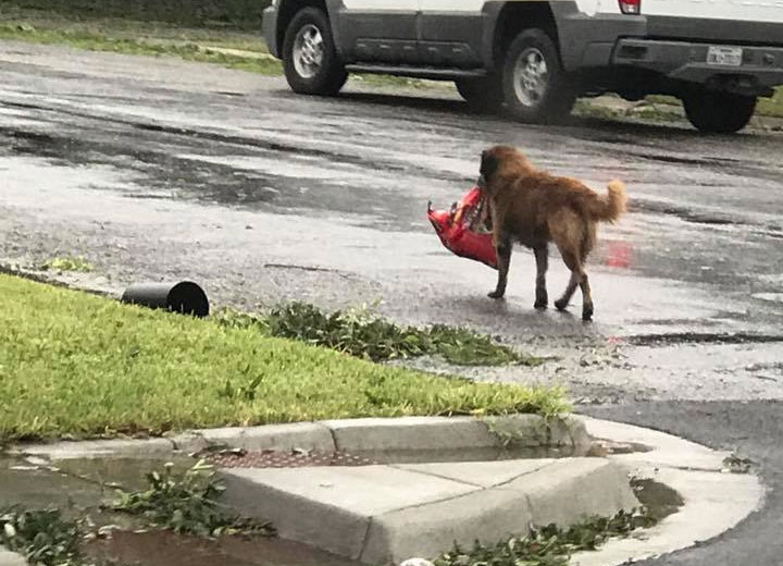
[(742, 64), (707, 63), (709, 44), (625, 38), (617, 41), (612, 66), (652, 71), (672, 81), (742, 94), (769, 94), (783, 85), (783, 48), (742, 46)]

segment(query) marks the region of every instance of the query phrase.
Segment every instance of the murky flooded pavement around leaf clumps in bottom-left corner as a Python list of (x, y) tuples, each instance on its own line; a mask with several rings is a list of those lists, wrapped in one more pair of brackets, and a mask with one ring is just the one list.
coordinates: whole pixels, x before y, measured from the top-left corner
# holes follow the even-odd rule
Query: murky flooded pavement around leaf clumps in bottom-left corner
[[(195, 460), (175, 460), (175, 469), (186, 469)], [(85, 546), (88, 556), (110, 564), (145, 566), (351, 566), (304, 544), (277, 538), (225, 537), (203, 540), (171, 532), (142, 532), (145, 525), (135, 517), (105, 510), (116, 500), (117, 488), (141, 490), (146, 475), (161, 470), (164, 460), (146, 458), (72, 459), (53, 463), (37, 458), (0, 455), (0, 509), (20, 505), (28, 509), (60, 508), (73, 520), (88, 519), (100, 529), (112, 528), (109, 539)], [(114, 530), (114, 529), (122, 530)]]

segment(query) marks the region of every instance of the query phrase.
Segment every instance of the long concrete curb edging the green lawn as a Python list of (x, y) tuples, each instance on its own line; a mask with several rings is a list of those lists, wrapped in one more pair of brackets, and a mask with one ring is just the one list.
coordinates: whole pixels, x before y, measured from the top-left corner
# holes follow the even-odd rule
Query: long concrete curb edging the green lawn
[(247, 451), (319, 451), (331, 453), (436, 451), (500, 447), (589, 448), (584, 423), (573, 417), (547, 421), (536, 415), (504, 417), (401, 417), (397, 419), (347, 419), (264, 427), (194, 430), (163, 439), (64, 441), (25, 444), (13, 454), (49, 459), (101, 457), (166, 457), (190, 454), (210, 446)]

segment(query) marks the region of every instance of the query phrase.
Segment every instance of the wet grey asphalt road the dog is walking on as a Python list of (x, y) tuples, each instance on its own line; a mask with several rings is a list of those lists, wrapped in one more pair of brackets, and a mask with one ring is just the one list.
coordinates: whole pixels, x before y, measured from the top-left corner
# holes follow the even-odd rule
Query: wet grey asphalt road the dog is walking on
[[(782, 136), (522, 126), (471, 115), (447, 90), (353, 82), (312, 99), (213, 66), (13, 42), (0, 42), (0, 73), (4, 263), (84, 255), (98, 272), (71, 279), (114, 292), (188, 278), (219, 305), (380, 299), (401, 322), (470, 324), (559, 359), (468, 374), (560, 382), (582, 404), (621, 403), (582, 410), (744, 444), (779, 481)], [(522, 249), (508, 299), (489, 300), (494, 272), (428, 226), (427, 200), (457, 200), (495, 143), (598, 189), (627, 184), (631, 211), (601, 230), (588, 268), (594, 323), (532, 309)], [(567, 279), (554, 258), (550, 296)], [(776, 496), (759, 517), (664, 563), (732, 564), (750, 550), (759, 561), (745, 564), (780, 562), (761, 559), (781, 544)]]

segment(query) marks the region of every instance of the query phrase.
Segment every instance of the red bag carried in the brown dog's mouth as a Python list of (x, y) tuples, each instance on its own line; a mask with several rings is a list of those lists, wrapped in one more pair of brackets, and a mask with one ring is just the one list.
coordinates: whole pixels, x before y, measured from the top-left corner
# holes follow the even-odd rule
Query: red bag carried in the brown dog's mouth
[(455, 202), (450, 211), (433, 210), (432, 204), (427, 205), (427, 217), (440, 242), (455, 255), (497, 269), (492, 233), (476, 232), (485, 227), (477, 225), (483, 206), (486, 204), (482, 198), (482, 190), (474, 187), (462, 200)]

